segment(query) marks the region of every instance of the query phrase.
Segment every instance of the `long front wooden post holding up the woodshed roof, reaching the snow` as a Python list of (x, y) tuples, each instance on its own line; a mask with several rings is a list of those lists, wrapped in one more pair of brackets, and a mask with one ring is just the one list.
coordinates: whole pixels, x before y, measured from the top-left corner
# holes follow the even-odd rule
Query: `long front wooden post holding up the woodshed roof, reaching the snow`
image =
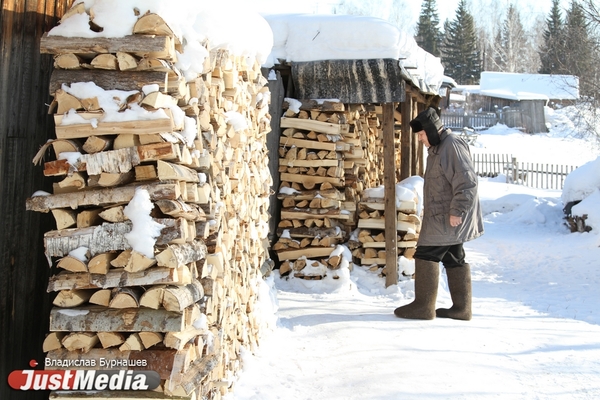
[[(403, 119), (404, 120), (404, 119)], [(398, 283), (398, 233), (396, 230), (396, 147), (394, 104), (383, 104), (383, 184), (385, 186), (385, 286)]]

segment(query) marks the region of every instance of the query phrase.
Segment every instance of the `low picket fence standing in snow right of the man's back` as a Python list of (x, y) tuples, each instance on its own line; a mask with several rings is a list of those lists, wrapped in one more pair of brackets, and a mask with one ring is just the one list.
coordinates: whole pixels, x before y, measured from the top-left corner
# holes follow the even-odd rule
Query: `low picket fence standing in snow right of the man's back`
[(510, 154), (473, 154), (477, 175), (506, 176), (506, 183), (538, 189), (562, 190), (565, 178), (577, 167), (544, 163), (518, 162)]

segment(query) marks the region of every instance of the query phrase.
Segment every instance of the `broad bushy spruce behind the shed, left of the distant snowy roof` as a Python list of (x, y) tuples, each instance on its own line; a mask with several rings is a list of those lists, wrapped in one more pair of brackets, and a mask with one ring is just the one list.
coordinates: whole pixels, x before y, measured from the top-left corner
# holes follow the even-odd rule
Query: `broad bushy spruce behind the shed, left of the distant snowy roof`
[(455, 19), (444, 23), (442, 64), (445, 74), (461, 85), (479, 83), (481, 55), (475, 22), (468, 12), (466, 0), (460, 0)]

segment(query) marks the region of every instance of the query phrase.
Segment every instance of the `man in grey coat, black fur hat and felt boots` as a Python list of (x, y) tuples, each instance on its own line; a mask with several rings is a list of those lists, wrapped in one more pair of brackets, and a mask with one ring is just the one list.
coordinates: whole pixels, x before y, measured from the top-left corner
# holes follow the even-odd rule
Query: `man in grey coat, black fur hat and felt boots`
[[(471, 319), (471, 268), (463, 243), (483, 234), (477, 174), (467, 143), (446, 129), (429, 107), (410, 121), (427, 147), (423, 223), (415, 258), (415, 300), (398, 307), (400, 318)], [(452, 307), (435, 309), (439, 263), (446, 268)]]

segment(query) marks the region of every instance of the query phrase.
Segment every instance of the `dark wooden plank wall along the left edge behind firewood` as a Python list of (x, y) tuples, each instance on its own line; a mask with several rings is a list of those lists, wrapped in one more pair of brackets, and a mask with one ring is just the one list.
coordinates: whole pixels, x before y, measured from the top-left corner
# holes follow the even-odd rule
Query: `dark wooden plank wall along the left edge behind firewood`
[[(47, 114), (52, 57), (40, 55), (42, 34), (56, 25), (72, 0), (2, 0), (0, 14), (0, 399), (43, 399), (44, 392), (8, 387), (12, 370), (43, 365), (49, 276), (43, 233), (50, 215), (25, 211), (36, 190), (50, 191), (31, 160), (51, 137)], [(38, 367), (39, 368), (39, 367)]]

